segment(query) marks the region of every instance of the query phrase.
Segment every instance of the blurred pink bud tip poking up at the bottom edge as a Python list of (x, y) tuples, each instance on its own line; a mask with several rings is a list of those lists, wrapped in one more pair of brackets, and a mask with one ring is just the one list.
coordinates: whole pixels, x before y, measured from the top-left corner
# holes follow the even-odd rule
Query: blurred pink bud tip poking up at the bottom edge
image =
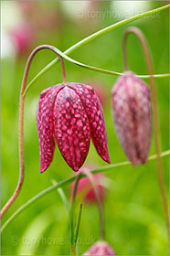
[(116, 255), (112, 247), (106, 241), (95, 242), (83, 255)]

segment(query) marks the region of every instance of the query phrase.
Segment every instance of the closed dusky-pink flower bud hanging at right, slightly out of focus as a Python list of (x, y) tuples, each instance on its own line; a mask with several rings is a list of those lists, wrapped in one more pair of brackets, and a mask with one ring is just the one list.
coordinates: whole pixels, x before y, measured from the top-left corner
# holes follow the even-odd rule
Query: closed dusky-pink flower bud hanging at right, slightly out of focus
[(151, 101), (148, 86), (125, 72), (112, 89), (113, 119), (122, 148), (133, 165), (144, 164), (151, 144)]

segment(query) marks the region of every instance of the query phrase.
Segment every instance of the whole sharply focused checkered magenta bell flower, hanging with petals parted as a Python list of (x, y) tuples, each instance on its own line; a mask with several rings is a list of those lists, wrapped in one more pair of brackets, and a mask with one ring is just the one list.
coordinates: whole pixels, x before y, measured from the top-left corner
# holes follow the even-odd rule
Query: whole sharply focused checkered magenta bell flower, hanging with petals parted
[(37, 107), (40, 172), (50, 165), (55, 139), (68, 165), (78, 171), (90, 147), (110, 163), (104, 115), (95, 91), (80, 83), (58, 84), (41, 92)]

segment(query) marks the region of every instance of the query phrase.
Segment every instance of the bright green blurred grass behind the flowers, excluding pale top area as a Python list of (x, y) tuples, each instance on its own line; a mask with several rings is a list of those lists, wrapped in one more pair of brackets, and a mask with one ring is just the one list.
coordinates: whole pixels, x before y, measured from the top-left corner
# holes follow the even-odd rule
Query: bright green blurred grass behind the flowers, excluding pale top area
[[(50, 5), (54, 5), (55, 3)], [(152, 7), (158, 7), (160, 3), (152, 2)], [(162, 4), (162, 3), (161, 3)], [(161, 5), (160, 4), (160, 5)], [(44, 3), (45, 7), (48, 3)], [(56, 6), (58, 8), (58, 5)], [(105, 10), (107, 3), (101, 8)], [(79, 23), (66, 21), (56, 33), (46, 35), (35, 42), (39, 44), (52, 44), (65, 51), (72, 44), (80, 41), (94, 31), (100, 30), (116, 22), (113, 17), (99, 20), (96, 27), (85, 25), (85, 20)], [(92, 21), (91, 21), (92, 22)], [(160, 12), (157, 18), (145, 18), (132, 23), (143, 30), (152, 49), (155, 73), (166, 73), (168, 67), (168, 11)], [(88, 27), (88, 29), (84, 27)], [(80, 29), (82, 27), (82, 29)], [(122, 72), (122, 33), (128, 24), (103, 37), (91, 41), (72, 54), (73, 59), (89, 63), (91, 66), (102, 67)], [(137, 74), (146, 74), (143, 52), (136, 38), (132, 37), (128, 43), (129, 63)], [(35, 58), (30, 70), (30, 80), (54, 58), (49, 52), (41, 52)], [(18, 179), (18, 144), (17, 144), (17, 118), (20, 85), (27, 61), (27, 56), (15, 61), (2, 59), (2, 206), (12, 195)], [(65, 61), (67, 78), (69, 81), (96, 81), (103, 85), (108, 95), (103, 106), (106, 119), (106, 127), (109, 141), (109, 152), (112, 164), (126, 161), (118, 142), (111, 112), (111, 90), (114, 76), (81, 69)], [(72, 170), (65, 163), (58, 148), (54, 155), (52, 165), (44, 174), (39, 173), (39, 152), (37, 141), (36, 111), (40, 91), (49, 86), (61, 82), (59, 66), (49, 69), (27, 92), (26, 116), (25, 116), (25, 154), (26, 176), (21, 194), (14, 205), (6, 212), (2, 225), (6, 219), (24, 205), (28, 199), (34, 197), (51, 186), (51, 178), (62, 181), (73, 175)], [(148, 81), (148, 80), (147, 80)], [(162, 151), (169, 147), (169, 79), (156, 80), (160, 131), (162, 137)], [(150, 155), (154, 155), (154, 142)], [(168, 157), (164, 157), (163, 166), (165, 172), (165, 188), (168, 196), (169, 190), (169, 163)], [(90, 154), (85, 165), (105, 166), (90, 144)], [(122, 165), (111, 168), (106, 173), (112, 179), (112, 186), (107, 193), (104, 202), (106, 219), (106, 239), (110, 242), (118, 255), (168, 255), (168, 242), (165, 227), (165, 215), (157, 181), (155, 160), (146, 165), (133, 167)], [(70, 186), (63, 187), (68, 198)], [(83, 215), (80, 223), (78, 238), (78, 250), (82, 254), (90, 245), (99, 240), (98, 208), (94, 205), (83, 206)], [(10, 223), (2, 234), (3, 255), (67, 255), (69, 253), (69, 229), (68, 216), (64, 206), (55, 191), (41, 197), (30, 208), (24, 210)]]

